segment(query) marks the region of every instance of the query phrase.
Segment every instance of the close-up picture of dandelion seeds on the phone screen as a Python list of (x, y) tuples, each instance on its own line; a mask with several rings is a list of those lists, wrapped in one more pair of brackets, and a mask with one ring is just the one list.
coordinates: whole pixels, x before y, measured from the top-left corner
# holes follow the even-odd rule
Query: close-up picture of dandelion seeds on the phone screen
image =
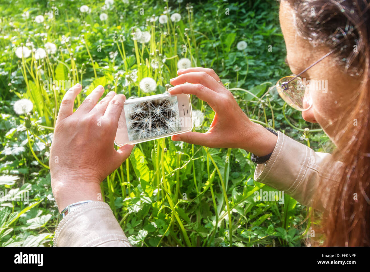
[(181, 130), (176, 97), (125, 105), (125, 116), (129, 141)]

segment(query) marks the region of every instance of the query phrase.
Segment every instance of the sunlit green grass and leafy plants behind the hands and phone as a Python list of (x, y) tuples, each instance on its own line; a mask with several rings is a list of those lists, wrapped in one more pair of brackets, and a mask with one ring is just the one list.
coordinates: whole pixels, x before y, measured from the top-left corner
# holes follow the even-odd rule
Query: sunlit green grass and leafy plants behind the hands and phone
[[(176, 76), (178, 60), (186, 57), (192, 67), (213, 68), (253, 121), (295, 140), (304, 128), (318, 128), (286, 108), (277, 94), (259, 98), (290, 74), (284, 64), (286, 51), (275, 0), (203, 1), (192, 4), (193, 8), (186, 1), (125, 4), (116, 0), (104, 11), (104, 1), (9, 2), (0, 6), (0, 46), (4, 48), (0, 53), (0, 191), (28, 192), (30, 202), (0, 199), (1, 246), (53, 245), (57, 207), (48, 156), (66, 89), (45, 90), (44, 80), (81, 83), (84, 88), (75, 107), (99, 84), (106, 93), (115, 90), (127, 98), (149, 95), (138, 87), (144, 77), (157, 81), (157, 90), (150, 94), (159, 94)], [(80, 12), (83, 4), (91, 13)], [(165, 7), (171, 7), (168, 16), (180, 13), (181, 21), (174, 23), (169, 17), (163, 25), (147, 21), (152, 14), (163, 14)], [(28, 19), (22, 16), (26, 11)], [(50, 11), (53, 19), (45, 16), (44, 23), (34, 22), (35, 16)], [(108, 18), (101, 21), (103, 12)], [(145, 46), (132, 40), (133, 27), (151, 33)], [(248, 47), (239, 51), (239, 41), (246, 41)], [(57, 52), (43, 60), (18, 58), (15, 48), (27, 42), (36, 48), (51, 42)], [(134, 70), (136, 81), (130, 79)], [(13, 104), (20, 98), (33, 102), (29, 116), (14, 112)], [(199, 131), (207, 131), (212, 109), (196, 97), (192, 105), (205, 114)], [(311, 132), (310, 145), (319, 151), (330, 148), (321, 131)], [(304, 245), (309, 208), (289, 195), (283, 205), (255, 201), (255, 191), (273, 190), (253, 181), (255, 167), (245, 150), (208, 149), (164, 138), (138, 144), (129, 159), (102, 182), (102, 195), (133, 245)]]

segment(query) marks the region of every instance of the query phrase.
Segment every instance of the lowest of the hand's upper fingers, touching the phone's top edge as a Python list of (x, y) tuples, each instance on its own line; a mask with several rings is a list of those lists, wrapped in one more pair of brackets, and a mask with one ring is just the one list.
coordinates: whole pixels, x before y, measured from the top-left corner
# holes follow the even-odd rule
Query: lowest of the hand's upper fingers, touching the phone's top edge
[(218, 99), (218, 93), (200, 83), (176, 85), (169, 88), (168, 92), (170, 94), (194, 94), (196, 97), (207, 102), (213, 110), (216, 110), (218, 103), (222, 103), (222, 101)]

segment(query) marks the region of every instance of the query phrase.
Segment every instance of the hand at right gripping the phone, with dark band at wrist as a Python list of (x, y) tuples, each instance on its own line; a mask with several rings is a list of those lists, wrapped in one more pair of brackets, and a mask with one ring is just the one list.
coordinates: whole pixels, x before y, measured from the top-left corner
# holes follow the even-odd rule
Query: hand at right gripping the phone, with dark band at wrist
[(207, 132), (185, 132), (173, 135), (172, 140), (206, 147), (242, 148), (259, 157), (274, 150), (277, 136), (249, 120), (212, 69), (188, 68), (178, 70), (177, 74), (170, 80), (174, 87), (168, 92), (196, 95), (211, 106), (215, 117)]

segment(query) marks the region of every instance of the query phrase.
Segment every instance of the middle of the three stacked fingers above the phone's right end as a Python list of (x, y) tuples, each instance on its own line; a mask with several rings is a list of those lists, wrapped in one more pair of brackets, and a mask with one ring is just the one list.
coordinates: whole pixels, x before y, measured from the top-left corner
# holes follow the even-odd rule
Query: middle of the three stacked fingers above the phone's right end
[(171, 78), (169, 83), (172, 85), (179, 85), (184, 83), (200, 83), (203, 86), (214, 90), (215, 92), (221, 91), (221, 86), (217, 81), (206, 72), (190, 72), (181, 74), (178, 77)]

